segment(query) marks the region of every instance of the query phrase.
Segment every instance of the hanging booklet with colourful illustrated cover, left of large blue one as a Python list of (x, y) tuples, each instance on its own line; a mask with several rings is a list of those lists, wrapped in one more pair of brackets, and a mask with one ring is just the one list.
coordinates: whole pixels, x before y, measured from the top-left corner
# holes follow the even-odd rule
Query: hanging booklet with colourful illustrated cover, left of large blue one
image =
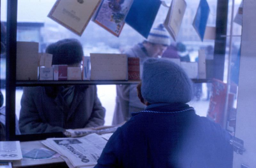
[(133, 0), (103, 0), (93, 21), (118, 37), (124, 27), (125, 17), (132, 2)]

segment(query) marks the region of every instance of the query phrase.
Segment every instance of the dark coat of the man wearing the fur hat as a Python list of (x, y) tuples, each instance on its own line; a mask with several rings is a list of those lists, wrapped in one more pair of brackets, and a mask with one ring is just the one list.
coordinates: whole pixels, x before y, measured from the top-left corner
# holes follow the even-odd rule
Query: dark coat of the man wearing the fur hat
[(47, 90), (47, 87), (24, 88), (19, 119), (21, 133), (62, 132), (104, 124), (106, 110), (97, 97), (95, 85), (75, 86), (70, 107), (59, 92), (49, 96)]

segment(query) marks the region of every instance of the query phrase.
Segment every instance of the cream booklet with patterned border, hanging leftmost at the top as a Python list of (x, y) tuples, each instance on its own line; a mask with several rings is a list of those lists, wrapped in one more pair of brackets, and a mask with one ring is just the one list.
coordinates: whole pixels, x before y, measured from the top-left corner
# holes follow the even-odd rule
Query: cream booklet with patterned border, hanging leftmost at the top
[(48, 17), (81, 36), (100, 0), (57, 0)]

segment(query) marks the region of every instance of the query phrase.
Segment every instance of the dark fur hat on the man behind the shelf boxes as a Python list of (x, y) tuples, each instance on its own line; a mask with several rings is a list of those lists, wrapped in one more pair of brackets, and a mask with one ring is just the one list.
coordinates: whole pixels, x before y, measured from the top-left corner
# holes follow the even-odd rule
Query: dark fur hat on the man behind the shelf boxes
[(52, 64), (75, 64), (82, 61), (84, 52), (77, 39), (63, 39), (52, 43), (46, 48), (46, 53), (52, 54)]

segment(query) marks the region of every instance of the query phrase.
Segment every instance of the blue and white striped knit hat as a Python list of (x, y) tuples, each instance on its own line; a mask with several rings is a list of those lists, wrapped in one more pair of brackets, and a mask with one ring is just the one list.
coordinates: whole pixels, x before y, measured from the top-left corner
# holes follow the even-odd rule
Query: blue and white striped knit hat
[(163, 24), (159, 24), (149, 32), (147, 41), (164, 46), (169, 46), (171, 44), (169, 33), (165, 30)]

